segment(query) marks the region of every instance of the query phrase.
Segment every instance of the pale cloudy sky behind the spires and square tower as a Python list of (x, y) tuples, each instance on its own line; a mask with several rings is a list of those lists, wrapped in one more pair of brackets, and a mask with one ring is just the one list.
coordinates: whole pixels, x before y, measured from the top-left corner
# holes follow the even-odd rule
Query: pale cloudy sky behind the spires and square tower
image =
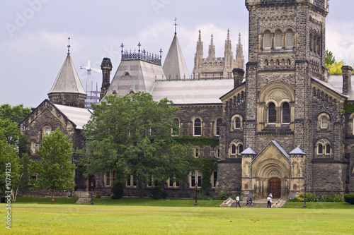
[[(204, 54), (214, 35), (216, 56), (224, 54), (230, 30), (232, 49), (238, 35), (248, 61), (248, 11), (244, 0), (1, 0), (0, 1), (0, 104), (37, 107), (47, 93), (70, 52), (81, 83), (87, 76), (81, 65), (91, 61), (100, 68), (103, 57), (113, 63), (111, 79), (120, 63), (120, 44), (125, 49), (149, 52), (163, 50), (173, 39), (174, 18), (189, 73), (193, 71), (198, 30), (202, 31)], [(326, 19), (326, 49), (354, 64), (353, 0), (331, 0)], [(92, 80), (101, 88), (101, 76)]]

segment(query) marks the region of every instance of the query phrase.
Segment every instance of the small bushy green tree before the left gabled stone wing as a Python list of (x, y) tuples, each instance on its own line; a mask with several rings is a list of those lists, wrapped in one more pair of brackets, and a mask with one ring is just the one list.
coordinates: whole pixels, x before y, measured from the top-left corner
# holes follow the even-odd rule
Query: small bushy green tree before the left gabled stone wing
[(72, 163), (72, 143), (66, 140), (59, 128), (45, 135), (40, 143), (40, 150), (35, 153), (40, 157), (38, 165), (38, 188), (64, 191), (74, 188), (74, 169)]

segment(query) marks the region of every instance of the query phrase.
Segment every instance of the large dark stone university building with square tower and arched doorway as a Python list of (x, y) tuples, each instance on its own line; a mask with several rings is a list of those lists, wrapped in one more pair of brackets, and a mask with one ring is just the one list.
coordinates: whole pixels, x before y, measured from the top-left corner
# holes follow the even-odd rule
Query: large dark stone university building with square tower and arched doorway
[[(195, 146), (195, 157), (217, 159), (210, 178), (212, 195), (227, 190), (242, 196), (293, 198), (307, 190), (319, 195), (354, 191), (354, 103), (352, 71), (329, 76), (325, 66), (326, 16), (329, 0), (246, 0), (249, 11), (249, 59), (244, 69), (241, 37), (236, 44), (226, 33), (224, 57), (215, 57), (213, 38), (206, 58), (199, 32), (190, 76), (175, 33), (164, 65), (160, 54), (122, 50), (122, 61), (110, 81), (113, 66), (101, 64), (105, 95), (149, 92), (154, 100), (167, 97), (179, 107), (176, 121), (182, 135), (207, 136), (218, 146)], [(67, 86), (64, 84), (71, 84)], [(21, 123), (35, 157), (42, 136), (58, 126), (74, 147), (82, 147), (82, 126), (91, 112), (70, 54), (52, 90)], [(77, 156), (73, 156), (75, 158)], [(86, 179), (75, 174), (76, 191), (110, 195), (115, 173), (110, 169)], [(167, 181), (170, 198), (191, 198), (202, 171), (190, 172), (185, 182)], [(153, 185), (144, 188), (152, 194)], [(134, 176), (125, 195), (136, 196)]]

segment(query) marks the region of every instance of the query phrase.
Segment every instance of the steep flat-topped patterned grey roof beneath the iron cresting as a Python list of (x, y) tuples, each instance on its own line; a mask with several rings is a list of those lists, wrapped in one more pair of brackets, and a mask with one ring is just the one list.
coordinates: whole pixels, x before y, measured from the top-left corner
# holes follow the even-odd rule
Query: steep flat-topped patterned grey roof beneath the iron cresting
[(122, 60), (110, 83), (106, 95), (114, 92), (119, 97), (128, 95), (130, 91), (151, 92), (156, 79), (164, 79), (164, 71), (159, 64), (142, 59)]

